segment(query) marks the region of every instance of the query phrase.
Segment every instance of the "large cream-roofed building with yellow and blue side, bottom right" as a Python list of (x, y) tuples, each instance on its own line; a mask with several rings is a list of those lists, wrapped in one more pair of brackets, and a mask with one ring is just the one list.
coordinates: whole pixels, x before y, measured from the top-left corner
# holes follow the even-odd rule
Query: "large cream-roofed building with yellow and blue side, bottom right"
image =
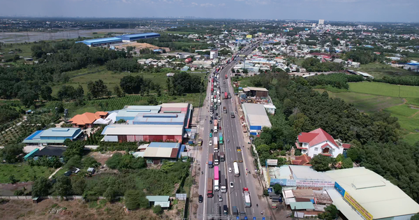
[(325, 172), (335, 182), (327, 192), (346, 219), (410, 219), (419, 204), (402, 189), (366, 168)]

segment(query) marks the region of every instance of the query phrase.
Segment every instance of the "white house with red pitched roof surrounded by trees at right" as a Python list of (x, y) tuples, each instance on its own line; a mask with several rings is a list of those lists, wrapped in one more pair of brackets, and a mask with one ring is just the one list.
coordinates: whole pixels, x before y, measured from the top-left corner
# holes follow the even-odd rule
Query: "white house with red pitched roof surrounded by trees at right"
[(295, 147), (300, 149), (302, 154), (307, 154), (307, 156), (313, 158), (318, 154), (336, 157), (343, 154), (351, 145), (333, 139), (332, 135), (319, 128), (309, 133), (300, 133), (297, 142), (295, 142)]

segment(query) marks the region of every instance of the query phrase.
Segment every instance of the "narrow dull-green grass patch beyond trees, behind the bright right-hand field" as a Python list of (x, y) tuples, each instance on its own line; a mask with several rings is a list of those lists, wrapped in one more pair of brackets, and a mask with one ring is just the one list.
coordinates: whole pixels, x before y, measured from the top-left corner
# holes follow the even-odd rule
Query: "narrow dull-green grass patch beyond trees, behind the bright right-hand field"
[(389, 66), (387, 64), (361, 64), (360, 68), (357, 68), (356, 71), (362, 71), (369, 73), (374, 76), (374, 78), (383, 78), (385, 75), (418, 75), (411, 71), (406, 71), (402, 68), (396, 68)]

